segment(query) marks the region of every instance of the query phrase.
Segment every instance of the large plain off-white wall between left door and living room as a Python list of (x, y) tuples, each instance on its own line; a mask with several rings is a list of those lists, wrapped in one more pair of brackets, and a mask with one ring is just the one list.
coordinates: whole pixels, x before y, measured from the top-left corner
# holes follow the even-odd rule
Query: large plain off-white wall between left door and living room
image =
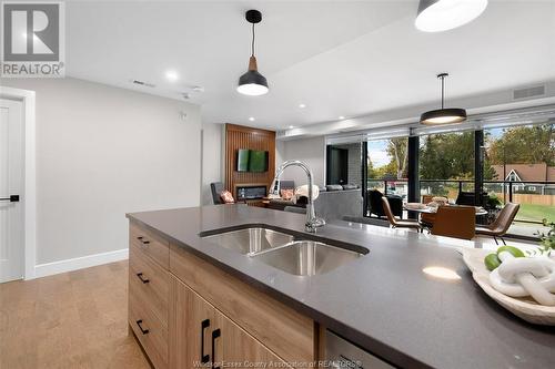
[(37, 92), (37, 264), (127, 248), (128, 212), (199, 204), (199, 106), (75, 79), (1, 83)]

